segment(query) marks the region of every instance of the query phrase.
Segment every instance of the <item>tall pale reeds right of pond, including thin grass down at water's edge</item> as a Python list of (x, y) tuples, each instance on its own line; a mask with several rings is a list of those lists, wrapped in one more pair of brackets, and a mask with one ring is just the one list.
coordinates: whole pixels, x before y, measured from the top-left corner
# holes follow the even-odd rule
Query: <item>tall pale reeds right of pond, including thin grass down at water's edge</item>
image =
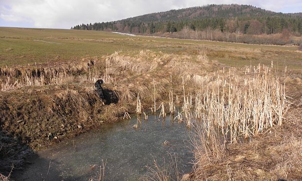
[(223, 71), (196, 90), (191, 140), (198, 166), (222, 159), (227, 143), (256, 137), (283, 125), (290, 106), (285, 84), (271, 67), (259, 64), (251, 70), (247, 68), (243, 76), (238, 76), (240, 72)]

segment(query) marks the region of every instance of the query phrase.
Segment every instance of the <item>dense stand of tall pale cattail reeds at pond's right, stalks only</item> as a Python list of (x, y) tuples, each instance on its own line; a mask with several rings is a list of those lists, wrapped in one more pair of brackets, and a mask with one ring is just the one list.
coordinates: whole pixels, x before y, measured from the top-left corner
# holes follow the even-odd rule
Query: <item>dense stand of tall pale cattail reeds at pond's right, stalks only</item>
[(259, 65), (254, 73), (248, 72), (237, 77), (229, 71), (226, 78), (218, 76), (204, 92), (196, 93), (196, 119), (205, 127), (218, 127), (231, 142), (281, 126), (289, 108), (285, 84), (268, 67)]

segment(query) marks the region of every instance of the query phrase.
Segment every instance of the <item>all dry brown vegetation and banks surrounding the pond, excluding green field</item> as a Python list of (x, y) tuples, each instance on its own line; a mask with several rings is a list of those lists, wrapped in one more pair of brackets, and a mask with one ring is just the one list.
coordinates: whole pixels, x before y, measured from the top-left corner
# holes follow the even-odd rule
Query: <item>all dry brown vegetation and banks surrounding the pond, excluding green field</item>
[[(206, 54), (151, 51), (117, 52), (57, 66), (4, 67), (1, 131), (39, 149), (128, 112), (161, 109), (164, 117), (174, 111), (175, 119), (196, 133), (192, 136), (196, 163), (188, 179), (299, 179), (301, 162), (293, 158), (301, 157), (301, 140), (288, 130), (301, 118), (285, 114), (294, 101), (285, 92), (287, 83), (297, 87), (300, 83), (293, 82), (301, 80), (273, 67), (272, 63), (229, 68)], [(98, 78), (105, 81), (105, 106), (94, 91)], [(299, 130), (300, 126), (293, 129)], [(283, 141), (287, 138), (290, 142)], [(280, 152), (283, 149), (292, 151)]]

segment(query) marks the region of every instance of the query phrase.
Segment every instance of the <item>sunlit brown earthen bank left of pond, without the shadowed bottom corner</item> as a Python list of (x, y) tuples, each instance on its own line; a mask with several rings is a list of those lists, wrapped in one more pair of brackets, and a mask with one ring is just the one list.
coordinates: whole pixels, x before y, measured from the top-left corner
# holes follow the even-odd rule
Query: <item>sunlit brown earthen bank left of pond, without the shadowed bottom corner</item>
[(106, 115), (94, 90), (79, 86), (22, 88), (1, 93), (1, 128), (33, 149), (73, 137), (119, 117), (127, 108)]

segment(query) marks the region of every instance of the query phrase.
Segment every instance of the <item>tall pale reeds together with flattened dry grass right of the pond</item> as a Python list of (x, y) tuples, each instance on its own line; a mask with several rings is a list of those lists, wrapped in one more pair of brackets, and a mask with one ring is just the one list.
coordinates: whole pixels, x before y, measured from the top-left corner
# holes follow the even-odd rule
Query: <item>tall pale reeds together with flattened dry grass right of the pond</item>
[(300, 117), (285, 116), (291, 103), (284, 78), (272, 72), (259, 66), (202, 83), (195, 99), (191, 179), (301, 179), (301, 126), (290, 126), (300, 125), (301, 115), (291, 110)]

